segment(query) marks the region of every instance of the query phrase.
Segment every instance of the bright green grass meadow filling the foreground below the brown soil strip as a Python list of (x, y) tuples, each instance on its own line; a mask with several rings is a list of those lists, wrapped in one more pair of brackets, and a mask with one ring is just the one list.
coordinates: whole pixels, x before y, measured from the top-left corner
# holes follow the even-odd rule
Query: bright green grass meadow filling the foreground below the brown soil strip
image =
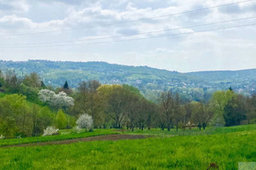
[[(110, 129), (99, 130), (99, 133), (101, 131), (115, 133)], [(167, 132), (152, 129), (143, 131), (145, 134), (158, 134), (149, 139), (0, 147), (0, 168), (190, 170), (207, 169), (212, 164), (219, 169), (237, 169), (239, 161), (256, 161), (255, 125), (211, 127), (206, 130), (212, 134), (194, 133), (199, 131), (198, 129), (192, 129), (190, 133), (186, 131), (183, 133), (184, 136), (183, 134), (170, 136), (168, 134), (176, 135), (175, 130)], [(96, 132), (93, 133), (96, 134)], [(82, 134), (89, 133), (80, 133)], [(72, 134), (60, 136), (65, 135)], [(57, 138), (57, 136), (51, 138)], [(4, 140), (0, 143), (3, 142)]]

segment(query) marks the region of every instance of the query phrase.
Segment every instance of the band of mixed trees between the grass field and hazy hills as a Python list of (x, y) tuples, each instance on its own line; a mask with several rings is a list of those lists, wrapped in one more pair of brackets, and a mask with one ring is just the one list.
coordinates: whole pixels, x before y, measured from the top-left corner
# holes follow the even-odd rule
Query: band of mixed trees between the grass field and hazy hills
[(82, 114), (90, 115), (96, 128), (160, 127), (185, 129), (254, 123), (256, 95), (236, 94), (232, 88), (217, 91), (209, 101), (183, 101), (180, 94), (161, 92), (158, 102), (146, 99), (130, 85), (80, 82), (69, 88), (45, 86), (36, 73), (23, 78), (14, 71), (0, 71), (0, 134), (7, 138), (37, 136), (48, 126), (72, 128)]

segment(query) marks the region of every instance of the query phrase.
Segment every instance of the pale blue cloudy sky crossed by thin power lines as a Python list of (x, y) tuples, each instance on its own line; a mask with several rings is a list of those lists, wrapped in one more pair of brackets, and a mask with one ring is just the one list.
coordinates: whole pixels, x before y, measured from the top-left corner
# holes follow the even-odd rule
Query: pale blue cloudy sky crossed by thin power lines
[(251, 69), (255, 24), (256, 0), (0, 0), (0, 59)]

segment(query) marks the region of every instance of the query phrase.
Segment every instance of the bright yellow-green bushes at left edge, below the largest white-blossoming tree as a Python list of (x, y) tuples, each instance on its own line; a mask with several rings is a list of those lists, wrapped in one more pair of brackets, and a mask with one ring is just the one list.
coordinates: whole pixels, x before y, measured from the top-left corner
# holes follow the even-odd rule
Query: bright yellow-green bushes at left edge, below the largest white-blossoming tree
[(26, 101), (26, 96), (7, 94), (0, 99), (0, 133), (7, 138), (35, 136), (54, 122), (55, 115), (39, 105)]

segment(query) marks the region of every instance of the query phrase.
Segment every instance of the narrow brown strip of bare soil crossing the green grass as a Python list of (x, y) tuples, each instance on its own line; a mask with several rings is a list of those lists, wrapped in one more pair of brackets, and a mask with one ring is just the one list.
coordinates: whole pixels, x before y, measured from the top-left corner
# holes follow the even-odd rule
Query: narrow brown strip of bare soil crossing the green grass
[(11, 144), (2, 146), (3, 148), (9, 147), (25, 147), (25, 146), (38, 146), (38, 145), (50, 145), (50, 144), (72, 144), (77, 142), (90, 142), (96, 140), (120, 140), (120, 139), (145, 139), (147, 138), (144, 135), (131, 135), (131, 134), (108, 134), (101, 136), (91, 136), (86, 138), (79, 139), (65, 139), (65, 140), (55, 140), (49, 142), (38, 142), (38, 143), (30, 143), (30, 144)]

